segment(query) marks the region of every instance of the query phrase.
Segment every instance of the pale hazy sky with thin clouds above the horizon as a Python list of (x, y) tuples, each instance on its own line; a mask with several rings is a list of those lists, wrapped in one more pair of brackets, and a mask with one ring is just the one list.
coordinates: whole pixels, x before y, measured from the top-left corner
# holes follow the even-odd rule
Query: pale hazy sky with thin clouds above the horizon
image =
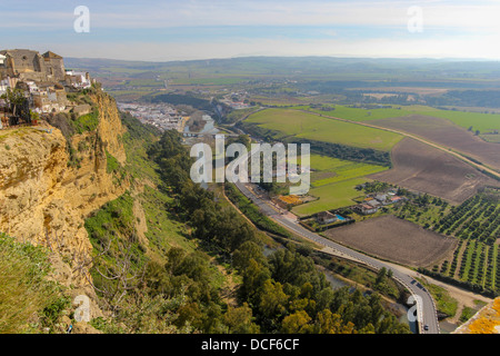
[[(88, 22), (74, 14), (79, 6)], [(77, 32), (74, 22), (89, 23), (89, 32)], [(498, 0), (0, 0), (0, 49), (64, 57), (498, 60), (499, 43)]]

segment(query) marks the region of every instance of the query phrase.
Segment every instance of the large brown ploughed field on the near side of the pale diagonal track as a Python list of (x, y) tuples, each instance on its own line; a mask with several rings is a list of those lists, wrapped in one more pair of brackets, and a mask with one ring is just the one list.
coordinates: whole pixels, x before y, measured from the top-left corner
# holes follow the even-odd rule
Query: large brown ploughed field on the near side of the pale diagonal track
[(404, 138), (392, 150), (393, 168), (368, 178), (427, 192), (461, 204), (479, 188), (498, 186), (460, 159), (414, 139)]

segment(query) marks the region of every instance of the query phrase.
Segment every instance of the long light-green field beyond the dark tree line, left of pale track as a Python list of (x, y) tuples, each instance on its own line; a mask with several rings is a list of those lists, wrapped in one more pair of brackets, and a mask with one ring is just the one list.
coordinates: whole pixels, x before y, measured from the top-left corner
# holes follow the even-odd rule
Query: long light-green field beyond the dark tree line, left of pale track
[(296, 136), (380, 151), (390, 151), (402, 138), (397, 134), (290, 109), (266, 109), (251, 115), (246, 122), (258, 123), (262, 128), (279, 131), (280, 137)]

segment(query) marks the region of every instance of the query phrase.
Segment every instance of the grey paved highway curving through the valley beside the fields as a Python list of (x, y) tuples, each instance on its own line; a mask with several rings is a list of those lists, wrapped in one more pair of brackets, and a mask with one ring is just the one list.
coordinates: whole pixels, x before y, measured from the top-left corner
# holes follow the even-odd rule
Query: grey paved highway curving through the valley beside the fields
[[(256, 151), (252, 150), (250, 155)], [(229, 166), (239, 165), (247, 157), (238, 157)], [(234, 181), (236, 179), (230, 179)], [(351, 259), (361, 264), (364, 264), (374, 269), (381, 269), (384, 267), (387, 270), (392, 271), (392, 278), (402, 284), (413, 296), (413, 300), (417, 301), (417, 320), (419, 322), (419, 333), (421, 334), (439, 334), (439, 323), (434, 301), (427, 289), (424, 289), (417, 280), (414, 280), (410, 275), (404, 274), (401, 268), (393, 268), (392, 266), (378, 260), (373, 257), (367, 256), (364, 254), (358, 253), (346, 246), (337, 244), (330, 239), (327, 239), (318, 234), (314, 234), (304, 227), (300, 226), (297, 221), (291, 221), (290, 219), (283, 217), (279, 211), (272, 208), (266, 200), (258, 197), (253, 191), (251, 191), (246, 184), (241, 181), (236, 181), (238, 189), (247, 196), (253, 204), (256, 204), (263, 214), (269, 216), (271, 219), (291, 230), (296, 235), (314, 241), (316, 244), (323, 246), (326, 253), (332, 255), (338, 255), (347, 259)], [(416, 305), (413, 303), (413, 305)]]

